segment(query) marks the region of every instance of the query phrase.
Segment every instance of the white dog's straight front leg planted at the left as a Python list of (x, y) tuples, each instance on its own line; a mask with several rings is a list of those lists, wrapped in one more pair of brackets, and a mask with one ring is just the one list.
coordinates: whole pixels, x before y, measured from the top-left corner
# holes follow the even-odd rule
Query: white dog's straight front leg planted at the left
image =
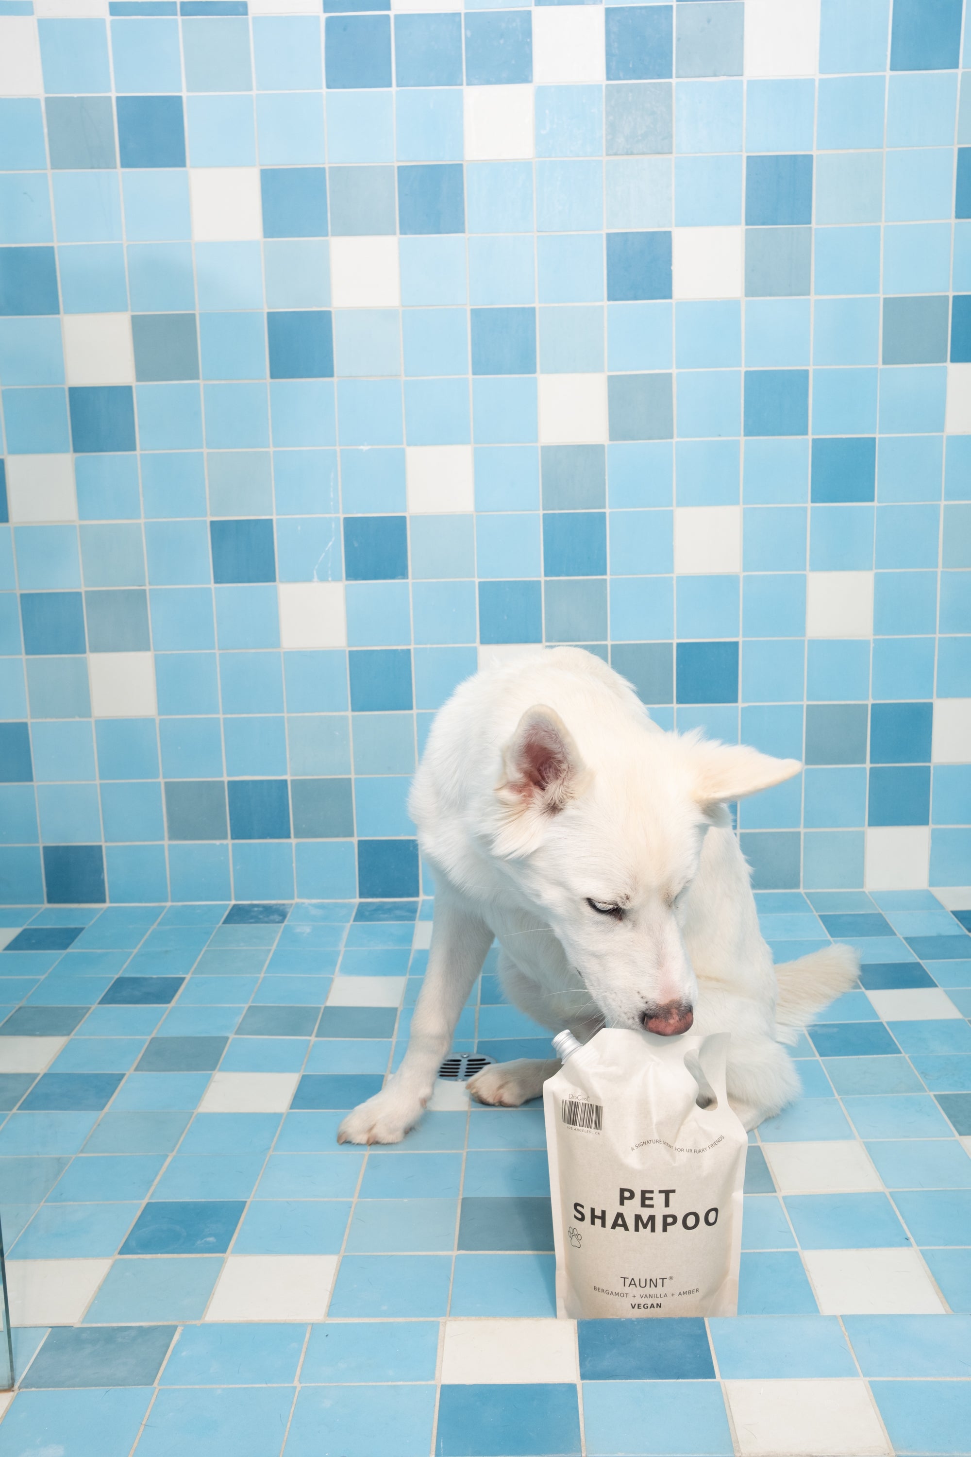
[(454, 892), (440, 889), (428, 970), (418, 994), (408, 1052), (387, 1085), (344, 1119), (338, 1129), (339, 1144), (397, 1144), (415, 1126), (491, 944), (492, 931), (485, 921)]

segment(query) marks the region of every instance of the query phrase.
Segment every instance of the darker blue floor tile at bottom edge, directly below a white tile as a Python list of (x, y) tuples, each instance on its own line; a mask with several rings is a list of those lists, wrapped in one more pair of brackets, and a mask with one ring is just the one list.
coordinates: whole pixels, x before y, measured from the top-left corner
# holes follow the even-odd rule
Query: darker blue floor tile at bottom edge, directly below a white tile
[(441, 1387), (435, 1457), (527, 1453), (530, 1457), (579, 1453), (579, 1410), (572, 1383)]

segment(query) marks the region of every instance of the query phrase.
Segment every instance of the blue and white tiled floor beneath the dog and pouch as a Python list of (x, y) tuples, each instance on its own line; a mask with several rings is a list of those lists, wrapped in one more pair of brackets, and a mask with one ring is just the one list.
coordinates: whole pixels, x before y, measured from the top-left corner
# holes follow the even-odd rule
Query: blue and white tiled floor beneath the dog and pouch
[[(758, 902), (777, 960), (862, 976), (751, 1135), (740, 1316), (579, 1324), (539, 1103), (440, 1081), (399, 1148), (335, 1142), (428, 902), (0, 912), (0, 1457), (971, 1453), (971, 916)], [(456, 1050), (547, 1046), (491, 957)]]

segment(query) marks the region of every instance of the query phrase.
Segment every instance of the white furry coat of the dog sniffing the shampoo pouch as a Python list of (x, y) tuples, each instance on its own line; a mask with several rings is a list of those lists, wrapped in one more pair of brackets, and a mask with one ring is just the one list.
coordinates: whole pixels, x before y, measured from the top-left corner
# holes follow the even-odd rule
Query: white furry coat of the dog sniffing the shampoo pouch
[[(834, 946), (773, 967), (725, 804), (799, 768), (664, 733), (629, 683), (578, 648), (463, 683), (411, 796), (435, 873), (411, 1042), (339, 1139), (393, 1144), (418, 1122), (494, 937), (507, 995), (543, 1026), (587, 1039), (604, 1023), (641, 1026), (649, 1005), (693, 1005), (699, 1032), (731, 1032), (728, 1091), (747, 1128), (792, 1101), (799, 1078), (782, 1043), (853, 983), (857, 959)], [(492, 1065), (469, 1090), (517, 1106), (558, 1067)]]

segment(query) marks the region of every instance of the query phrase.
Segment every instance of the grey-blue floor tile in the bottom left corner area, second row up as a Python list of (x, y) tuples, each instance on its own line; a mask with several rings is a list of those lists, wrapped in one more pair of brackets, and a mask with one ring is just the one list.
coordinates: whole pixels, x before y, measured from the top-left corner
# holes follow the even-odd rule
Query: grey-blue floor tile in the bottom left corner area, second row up
[(58, 1326), (48, 1333), (20, 1386), (153, 1386), (175, 1333), (175, 1326)]

